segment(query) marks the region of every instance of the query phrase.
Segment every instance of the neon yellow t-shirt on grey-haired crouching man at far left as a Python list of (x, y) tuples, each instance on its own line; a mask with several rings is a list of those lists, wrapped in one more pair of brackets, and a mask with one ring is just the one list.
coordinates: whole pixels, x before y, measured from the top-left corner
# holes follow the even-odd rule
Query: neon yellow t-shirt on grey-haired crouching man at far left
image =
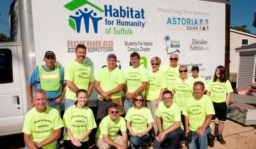
[[(64, 126), (59, 112), (50, 106), (46, 107), (46, 111), (43, 113), (37, 112), (36, 107), (34, 107), (27, 112), (25, 116), (22, 132), (30, 134), (31, 140), (37, 143), (41, 143), (47, 138), (50, 138), (53, 136), (53, 130)], [(55, 149), (56, 144), (57, 140), (42, 148)]]

